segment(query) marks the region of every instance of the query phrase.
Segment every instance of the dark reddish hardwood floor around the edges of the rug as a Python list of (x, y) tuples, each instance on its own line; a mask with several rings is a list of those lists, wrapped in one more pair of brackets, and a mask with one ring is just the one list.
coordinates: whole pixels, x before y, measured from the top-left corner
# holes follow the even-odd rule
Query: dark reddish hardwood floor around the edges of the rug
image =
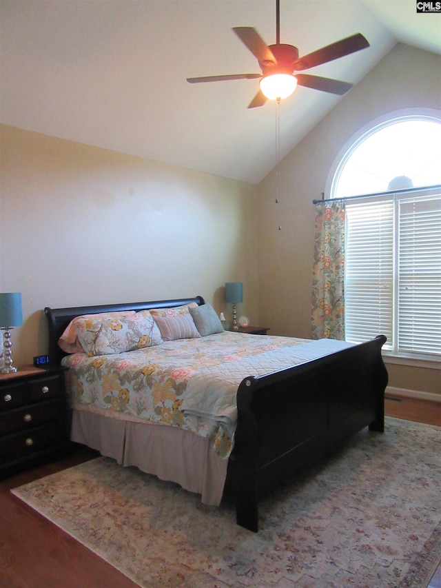
[[(387, 398), (387, 416), (441, 426), (441, 403)], [(1, 588), (133, 588), (134, 582), (15, 498), (10, 489), (92, 459), (77, 449), (72, 456), (0, 481)], [(441, 588), (441, 565), (428, 588)]]

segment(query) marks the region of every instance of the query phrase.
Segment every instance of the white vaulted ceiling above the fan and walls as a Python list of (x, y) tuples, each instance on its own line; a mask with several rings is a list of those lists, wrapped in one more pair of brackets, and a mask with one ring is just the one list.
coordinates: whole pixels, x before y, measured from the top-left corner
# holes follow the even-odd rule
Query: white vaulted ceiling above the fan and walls
[[(275, 0), (0, 0), (0, 121), (211, 174), (260, 182), (276, 163), (276, 105), (247, 109), (260, 72), (232, 32), (276, 42)], [(300, 56), (361, 32), (370, 47), (308, 73), (357, 83), (398, 41), (441, 53), (441, 15), (415, 0), (280, 0)], [(344, 99), (296, 89), (280, 157)]]

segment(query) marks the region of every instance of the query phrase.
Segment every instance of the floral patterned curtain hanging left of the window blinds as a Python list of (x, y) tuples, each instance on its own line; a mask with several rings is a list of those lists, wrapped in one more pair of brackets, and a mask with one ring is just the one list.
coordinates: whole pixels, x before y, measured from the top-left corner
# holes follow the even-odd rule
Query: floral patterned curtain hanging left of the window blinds
[(345, 203), (317, 205), (312, 338), (345, 338)]

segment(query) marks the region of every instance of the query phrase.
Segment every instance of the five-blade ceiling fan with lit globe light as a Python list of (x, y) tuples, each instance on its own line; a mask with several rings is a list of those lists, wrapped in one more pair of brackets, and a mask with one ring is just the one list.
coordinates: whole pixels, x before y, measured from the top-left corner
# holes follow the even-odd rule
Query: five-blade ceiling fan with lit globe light
[[(210, 81), (226, 81), (237, 79), (259, 79), (260, 90), (249, 103), (248, 108), (263, 106), (267, 99), (280, 100), (288, 97), (296, 89), (296, 85), (302, 85), (313, 90), (329, 92), (331, 94), (345, 94), (352, 88), (351, 83), (345, 81), (314, 76), (310, 74), (298, 74), (303, 70), (314, 68), (316, 65), (339, 59), (350, 53), (369, 47), (369, 43), (361, 33), (331, 43), (304, 57), (298, 57), (298, 48), (294, 45), (280, 43), (280, 0), (276, 0), (276, 44), (267, 45), (256, 29), (252, 27), (234, 27), (233, 31), (245, 46), (257, 58), (262, 70), (261, 74), (230, 74), (224, 76), (206, 76), (187, 78), (189, 83), (201, 83)], [(287, 83), (287, 89), (280, 85), (272, 87), (273, 83)], [(271, 88), (269, 88), (271, 86)]]

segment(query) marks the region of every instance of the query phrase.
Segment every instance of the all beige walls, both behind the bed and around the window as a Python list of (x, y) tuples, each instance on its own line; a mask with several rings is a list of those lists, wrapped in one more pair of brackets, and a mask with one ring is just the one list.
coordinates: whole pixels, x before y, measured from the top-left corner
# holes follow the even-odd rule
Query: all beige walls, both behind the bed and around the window
[[(240, 314), (309, 338), (312, 200), (367, 123), (441, 108), (440, 61), (396, 45), (281, 163), (279, 205), (274, 173), (256, 188), (0, 125), (0, 292), (22, 292), (25, 319), (15, 363), (46, 351), (46, 305), (202, 294), (220, 312), (223, 284), (236, 280)], [(440, 370), (391, 365), (389, 376), (441, 394)]]

